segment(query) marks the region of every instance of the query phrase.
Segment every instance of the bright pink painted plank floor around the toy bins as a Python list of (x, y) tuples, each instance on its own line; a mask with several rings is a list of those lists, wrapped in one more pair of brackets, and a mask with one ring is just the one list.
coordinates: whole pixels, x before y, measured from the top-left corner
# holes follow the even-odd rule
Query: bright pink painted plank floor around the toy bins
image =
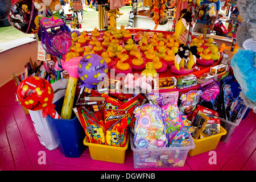
[[(0, 88), (0, 170), (2, 171), (135, 171), (133, 151), (126, 151), (125, 164), (101, 162), (90, 158), (87, 147), (80, 158), (66, 158), (59, 149), (40, 144), (29, 114), (15, 101), (16, 86), (10, 81)], [(147, 170), (169, 171), (254, 171), (256, 170), (256, 114), (250, 111), (234, 130), (228, 143), (219, 142), (214, 150), (217, 164), (210, 165), (208, 152), (188, 156), (184, 167)], [(46, 164), (38, 163), (38, 152), (45, 151)]]

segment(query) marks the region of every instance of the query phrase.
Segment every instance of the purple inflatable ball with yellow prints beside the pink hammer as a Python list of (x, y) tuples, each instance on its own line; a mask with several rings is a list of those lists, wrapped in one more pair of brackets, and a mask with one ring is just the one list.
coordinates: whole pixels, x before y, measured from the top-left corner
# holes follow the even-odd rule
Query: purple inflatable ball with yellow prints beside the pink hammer
[(82, 86), (93, 88), (100, 84), (108, 74), (108, 64), (101, 56), (89, 54), (80, 60), (78, 73), (84, 82)]

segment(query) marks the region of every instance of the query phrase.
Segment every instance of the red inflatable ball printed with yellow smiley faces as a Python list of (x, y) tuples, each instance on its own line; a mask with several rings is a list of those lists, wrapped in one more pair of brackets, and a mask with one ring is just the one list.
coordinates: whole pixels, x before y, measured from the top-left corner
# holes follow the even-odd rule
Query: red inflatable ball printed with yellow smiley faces
[(32, 76), (20, 82), (17, 97), (27, 109), (42, 110), (52, 105), (54, 92), (46, 79)]

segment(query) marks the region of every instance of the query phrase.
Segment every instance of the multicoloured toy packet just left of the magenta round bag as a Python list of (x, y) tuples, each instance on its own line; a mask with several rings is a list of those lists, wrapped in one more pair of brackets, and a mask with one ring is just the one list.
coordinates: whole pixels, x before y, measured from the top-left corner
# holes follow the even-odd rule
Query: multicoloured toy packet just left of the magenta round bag
[(201, 90), (191, 90), (185, 94), (181, 94), (181, 105), (179, 106), (181, 115), (187, 115), (189, 112), (193, 111), (199, 103), (202, 94)]

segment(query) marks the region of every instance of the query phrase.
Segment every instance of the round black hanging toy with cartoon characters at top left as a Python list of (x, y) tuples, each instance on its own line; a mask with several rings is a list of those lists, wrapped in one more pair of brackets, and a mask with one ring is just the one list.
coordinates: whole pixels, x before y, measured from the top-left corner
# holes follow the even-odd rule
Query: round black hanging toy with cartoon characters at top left
[(11, 7), (10, 24), (25, 34), (36, 34), (40, 28), (38, 10), (32, 0), (19, 0)]

